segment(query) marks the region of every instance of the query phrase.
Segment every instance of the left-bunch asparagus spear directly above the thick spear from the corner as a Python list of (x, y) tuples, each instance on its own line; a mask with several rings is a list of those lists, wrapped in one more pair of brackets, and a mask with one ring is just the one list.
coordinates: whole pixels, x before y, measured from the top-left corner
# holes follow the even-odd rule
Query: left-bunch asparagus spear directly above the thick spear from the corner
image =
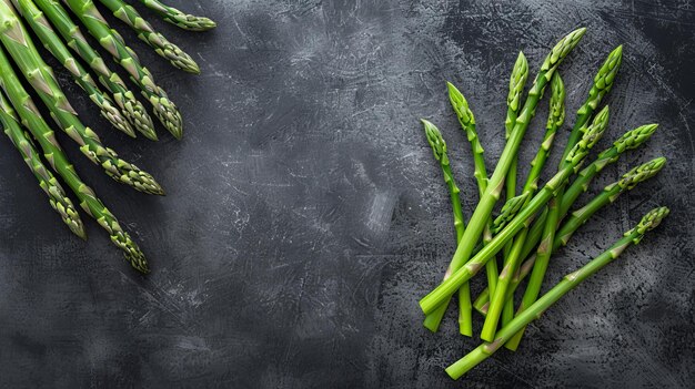
[(135, 132), (124, 115), (117, 109), (115, 104), (104, 94), (92, 80), (91, 74), (82, 64), (70, 54), (66, 44), (58, 38), (51, 24), (46, 20), (43, 13), (30, 0), (13, 0), (16, 9), (24, 17), (27, 24), (39, 37), (43, 47), (72, 74), (72, 78), (89, 98), (99, 106), (101, 115), (108, 120), (115, 129), (122, 131), (131, 137), (135, 137)]

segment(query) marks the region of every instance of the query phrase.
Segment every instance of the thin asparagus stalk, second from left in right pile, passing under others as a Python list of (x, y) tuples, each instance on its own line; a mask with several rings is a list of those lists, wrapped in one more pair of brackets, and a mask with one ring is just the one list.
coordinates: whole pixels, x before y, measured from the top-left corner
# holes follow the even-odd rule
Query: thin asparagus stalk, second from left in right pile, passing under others
[[(456, 117), (459, 119), (459, 123), (461, 127), (466, 133), (466, 139), (471, 144), (471, 152), (473, 154), (474, 162), (474, 173), (475, 180), (477, 182), (477, 190), (481, 194), (485, 192), (487, 186), (487, 170), (485, 167), (485, 157), (484, 157), (484, 149), (481, 144), (481, 141), (477, 136), (477, 131), (475, 129), (475, 115), (473, 115), (473, 111), (469, 106), (469, 102), (463, 96), (456, 86), (454, 86), (451, 82), (446, 83), (446, 89), (449, 90), (449, 101), (451, 102), (451, 106), (454, 109), (456, 113)], [(487, 242), (488, 238), (492, 237), (490, 233), (490, 221), (485, 226), (485, 232), (483, 233), (483, 243)], [(461, 243), (461, 239), (459, 240)], [(491, 265), (492, 266), (492, 265)], [(495, 269), (496, 273), (496, 269)], [(447, 275), (444, 275), (444, 279), (446, 279)], [(472, 303), (471, 303), (471, 287), (466, 283), (459, 289), (459, 332), (465, 336), (473, 336), (473, 317), (471, 315)], [(432, 331), (436, 331), (440, 323), (442, 321), (442, 317), (444, 316), (445, 310), (437, 311), (434, 316), (425, 317), (424, 326)]]

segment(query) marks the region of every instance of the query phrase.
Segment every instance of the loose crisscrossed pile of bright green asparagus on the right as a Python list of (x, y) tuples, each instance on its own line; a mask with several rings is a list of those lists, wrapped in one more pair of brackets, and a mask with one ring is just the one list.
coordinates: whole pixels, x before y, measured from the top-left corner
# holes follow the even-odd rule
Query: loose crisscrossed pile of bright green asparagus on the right
[[(625, 233), (625, 236), (608, 250), (577, 272), (567, 275), (548, 293), (541, 296), (552, 255), (561, 246), (566, 245), (572, 235), (592, 215), (615, 202), (622, 193), (656, 175), (666, 163), (664, 157), (657, 157), (635, 166), (623, 174), (621, 180), (606, 186), (587, 204), (571, 212), (580, 195), (588, 190), (591, 182), (601, 171), (615, 163), (624, 152), (644, 144), (657, 127), (656, 124), (645, 124), (627, 131), (582, 168), (591, 150), (608, 127), (608, 106), (600, 109), (600, 105), (611, 91), (621, 68), (623, 48), (618, 45), (608, 54), (593, 79), (588, 96), (576, 113), (555, 174), (545, 184), (538, 184), (555, 135), (565, 121), (565, 86), (558, 66), (584, 33), (583, 28), (572, 31), (551, 50), (526, 93), (525, 102), (523, 96), (528, 78), (528, 63), (520, 52), (510, 79), (507, 115), (504, 123), (506, 144), (492, 175), (487, 174), (485, 167), (484, 150), (476, 133), (475, 116), (463, 94), (453, 84), (447, 83), (452, 108), (471, 143), (474, 176), (480, 191), (480, 202), (467, 224), (464, 223), (460, 190), (451, 170), (446, 143), (434, 124), (422, 120), (427, 142), (442, 168), (450, 192), (457, 243), (443, 281), (420, 300), (420, 307), (425, 314), (424, 326), (432, 331), (437, 330), (454, 295), (457, 295), (459, 300), (459, 325), (462, 335), (473, 335), (473, 309), (485, 317), (481, 330), (481, 338), (485, 342), (446, 369), (454, 379), (463, 376), (502, 346), (516, 350), (524, 329), (532, 320), (537, 319), (560, 297), (586, 277), (615, 259), (627, 246), (637, 244), (647, 231), (656, 227), (668, 214), (665, 207), (651, 211), (635, 228)], [(545, 134), (531, 162), (524, 184), (517, 190), (518, 150), (547, 86), (550, 86), (550, 110)], [(493, 217), (495, 204), (503, 194), (506, 197), (505, 204), (501, 207), (500, 214)], [(497, 256), (502, 259), (500, 264)], [(483, 267), (487, 287), (472, 301), (469, 280)], [(516, 291), (525, 278), (528, 278), (526, 289), (515, 308)]]

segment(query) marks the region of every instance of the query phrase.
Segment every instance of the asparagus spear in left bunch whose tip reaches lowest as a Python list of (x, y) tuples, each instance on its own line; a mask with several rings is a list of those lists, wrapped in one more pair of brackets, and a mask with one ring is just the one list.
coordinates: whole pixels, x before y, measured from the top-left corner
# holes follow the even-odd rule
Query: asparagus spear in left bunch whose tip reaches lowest
[[(2, 22), (2, 24), (4, 24), (4, 22)], [(62, 177), (63, 182), (68, 184), (70, 190), (72, 190), (80, 201), (82, 209), (93, 217), (99, 225), (109, 233), (111, 242), (124, 252), (125, 258), (130, 262), (131, 266), (142, 273), (148, 273), (147, 259), (138, 245), (130, 238), (130, 235), (121, 228), (115, 216), (109, 212), (94, 192), (80, 180), (74, 167), (72, 167), (70, 161), (58, 144), (56, 134), (41, 117), (39, 110), (37, 110), (31, 96), (29, 96), (23, 89), (17, 75), (8, 71), (9, 66), (8, 58), (3, 50), (0, 49), (0, 69), (2, 70), (0, 72), (0, 86), (12, 105), (14, 105), (22, 124), (31, 132), (41, 146), (46, 160), (50, 163), (53, 171)]]

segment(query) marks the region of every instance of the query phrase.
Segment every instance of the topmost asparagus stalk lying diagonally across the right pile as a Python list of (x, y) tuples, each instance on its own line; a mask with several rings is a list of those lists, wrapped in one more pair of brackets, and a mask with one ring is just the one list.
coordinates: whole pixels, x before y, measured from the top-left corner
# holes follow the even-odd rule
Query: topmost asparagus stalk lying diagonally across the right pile
[[(447, 304), (451, 295), (454, 294), (461, 284), (467, 281), (485, 265), (492, 256), (494, 256), (510, 239), (512, 239), (522, 228), (528, 227), (533, 221), (533, 216), (541, 209), (547, 202), (555, 196), (555, 193), (566, 183), (567, 178), (576, 173), (582, 165), (584, 158), (588, 154), (590, 150), (596, 144), (596, 142), (603, 135), (605, 129), (602, 125), (591, 125), (588, 131), (584, 133), (582, 140), (573, 147), (567, 155), (570, 165), (561, 170), (553, 176), (541, 191), (528, 202), (528, 204), (522, 209), (522, 212), (514, 217), (512, 222), (507, 224), (500, 234), (497, 234), (490, 244), (483, 247), (471, 260), (464, 266), (454, 272), (451, 277), (432, 290), (427, 296), (420, 300), (420, 307), (425, 315), (441, 309), (442, 305)], [(471, 229), (469, 224), (465, 235)], [(497, 288), (500, 284), (497, 284)], [(497, 290), (495, 290), (496, 294)]]

